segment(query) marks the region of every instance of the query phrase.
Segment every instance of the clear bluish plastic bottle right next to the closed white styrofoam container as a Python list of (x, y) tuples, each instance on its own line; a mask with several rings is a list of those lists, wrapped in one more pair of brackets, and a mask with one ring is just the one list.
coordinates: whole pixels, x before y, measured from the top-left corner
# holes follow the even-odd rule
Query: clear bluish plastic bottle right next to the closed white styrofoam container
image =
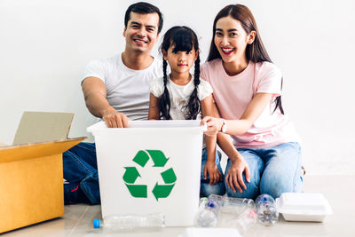
[(279, 219), (276, 202), (269, 194), (261, 194), (256, 198), (257, 221), (266, 226), (275, 225)]

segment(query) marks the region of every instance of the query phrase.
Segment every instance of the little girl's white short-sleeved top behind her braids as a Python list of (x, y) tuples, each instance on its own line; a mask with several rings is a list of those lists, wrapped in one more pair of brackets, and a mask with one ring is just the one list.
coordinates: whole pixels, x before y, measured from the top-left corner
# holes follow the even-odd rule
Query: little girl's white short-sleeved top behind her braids
[[(167, 88), (170, 96), (171, 119), (185, 120), (185, 115), (188, 112), (186, 105), (194, 90), (193, 79), (191, 79), (190, 82), (185, 85), (177, 85), (176, 83), (173, 83), (168, 76)], [(160, 98), (164, 92), (163, 78), (160, 77), (154, 79), (154, 81), (150, 84), (149, 91), (154, 95), (154, 97)], [(201, 80), (201, 83), (197, 88), (197, 95), (200, 101), (207, 98), (212, 92), (212, 87), (209, 85), (209, 83)], [(201, 119), (201, 113), (197, 116), (196, 119)]]

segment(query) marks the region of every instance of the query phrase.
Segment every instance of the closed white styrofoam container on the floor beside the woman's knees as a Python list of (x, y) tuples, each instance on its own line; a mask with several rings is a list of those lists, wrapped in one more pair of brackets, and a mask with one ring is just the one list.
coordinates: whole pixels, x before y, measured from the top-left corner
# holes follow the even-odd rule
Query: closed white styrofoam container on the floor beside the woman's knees
[(333, 213), (323, 194), (316, 193), (284, 193), (276, 205), (287, 221), (323, 222)]

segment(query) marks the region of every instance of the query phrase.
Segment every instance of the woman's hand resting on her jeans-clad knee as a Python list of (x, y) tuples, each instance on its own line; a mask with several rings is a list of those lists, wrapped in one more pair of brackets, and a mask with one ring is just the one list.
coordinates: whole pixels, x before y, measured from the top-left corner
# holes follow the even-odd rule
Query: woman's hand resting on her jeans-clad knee
[(225, 176), (226, 185), (229, 188), (232, 188), (234, 193), (237, 192), (235, 187), (240, 193), (243, 193), (241, 188), (244, 190), (247, 189), (247, 186), (245, 186), (243, 180), (243, 172), (245, 172), (245, 178), (247, 179), (247, 182), (250, 183), (250, 170), (248, 163), (244, 160), (243, 157), (238, 157), (238, 159), (233, 162), (231, 168), (228, 170), (228, 173)]

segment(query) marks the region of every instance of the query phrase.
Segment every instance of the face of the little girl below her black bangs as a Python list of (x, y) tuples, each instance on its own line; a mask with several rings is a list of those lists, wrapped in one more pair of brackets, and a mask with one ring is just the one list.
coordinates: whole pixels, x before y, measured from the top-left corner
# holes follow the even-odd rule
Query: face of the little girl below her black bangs
[(194, 48), (191, 51), (174, 52), (175, 45), (170, 45), (168, 51), (162, 50), (162, 55), (168, 61), (171, 73), (184, 74), (189, 73), (193, 67), (193, 62), (197, 59), (198, 51)]

